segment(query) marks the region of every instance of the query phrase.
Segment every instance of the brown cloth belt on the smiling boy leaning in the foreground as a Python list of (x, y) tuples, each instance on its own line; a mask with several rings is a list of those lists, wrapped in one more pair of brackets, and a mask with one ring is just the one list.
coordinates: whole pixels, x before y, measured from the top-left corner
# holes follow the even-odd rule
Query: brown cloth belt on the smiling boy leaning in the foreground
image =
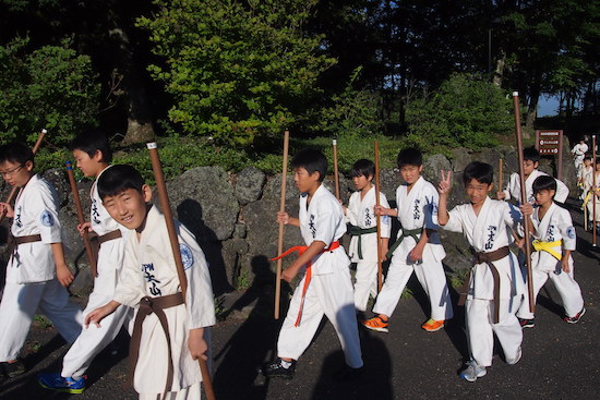
[(137, 357), (140, 356), (140, 342), (142, 340), (142, 323), (152, 313), (156, 314), (156, 317), (163, 326), (165, 336), (167, 338), (167, 348), (169, 349), (169, 368), (167, 372), (167, 383), (165, 384), (165, 393), (167, 395), (172, 387), (173, 381), (173, 360), (171, 350), (171, 337), (169, 335), (169, 323), (165, 308), (175, 307), (176, 305), (183, 304), (183, 294), (181, 292), (176, 294), (163, 295), (159, 298), (144, 296), (140, 301), (140, 308), (135, 316), (133, 324), (133, 334), (131, 335), (131, 343), (129, 347), (129, 383), (133, 384), (133, 375), (135, 373), (135, 365), (137, 364)]

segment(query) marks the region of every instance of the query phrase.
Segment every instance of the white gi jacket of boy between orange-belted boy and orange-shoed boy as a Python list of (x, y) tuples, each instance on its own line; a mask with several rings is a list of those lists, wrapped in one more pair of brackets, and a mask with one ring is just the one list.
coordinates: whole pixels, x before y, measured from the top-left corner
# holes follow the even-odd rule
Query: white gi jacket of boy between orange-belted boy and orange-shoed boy
[[(348, 207), (346, 208), (346, 221), (355, 227), (361, 229), (369, 229), (377, 226), (377, 216), (375, 215), (376, 198), (375, 186), (371, 187), (364, 197), (360, 198), (360, 191), (352, 193)], [(389, 208), (389, 203), (383, 193), (380, 193), (380, 205), (385, 208)], [(381, 216), (381, 237), (389, 238), (392, 231), (392, 221), (388, 216)], [(367, 233), (362, 234), (360, 239), (362, 259), (359, 258), (358, 253), (359, 238), (352, 237), (350, 240), (350, 246), (348, 254), (352, 263), (358, 262), (376, 262), (377, 260), (377, 234)]]

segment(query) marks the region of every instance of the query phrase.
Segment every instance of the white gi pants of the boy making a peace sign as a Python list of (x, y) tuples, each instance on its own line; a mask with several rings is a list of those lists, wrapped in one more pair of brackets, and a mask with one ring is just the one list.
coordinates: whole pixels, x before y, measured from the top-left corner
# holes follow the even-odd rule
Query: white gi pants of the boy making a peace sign
[(467, 298), (465, 303), (467, 338), (471, 357), (479, 365), (491, 366), (494, 351), (494, 334), (506, 360), (516, 359), (523, 342), (523, 329), (514, 310), (516, 298), (500, 301), (499, 323), (494, 324), (493, 300)]

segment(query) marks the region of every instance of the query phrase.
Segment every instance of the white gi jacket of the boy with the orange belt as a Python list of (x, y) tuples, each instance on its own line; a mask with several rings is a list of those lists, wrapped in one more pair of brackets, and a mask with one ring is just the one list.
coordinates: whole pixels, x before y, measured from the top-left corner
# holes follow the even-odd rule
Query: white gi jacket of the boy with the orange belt
[[(326, 243), (326, 249), (346, 233), (344, 210), (335, 196), (322, 184), (314, 192), (307, 207), (308, 194), (300, 195), (300, 233), (307, 246), (315, 240)], [(348, 266), (350, 259), (343, 246), (323, 252), (312, 258), (312, 275), (333, 272), (333, 265)]]

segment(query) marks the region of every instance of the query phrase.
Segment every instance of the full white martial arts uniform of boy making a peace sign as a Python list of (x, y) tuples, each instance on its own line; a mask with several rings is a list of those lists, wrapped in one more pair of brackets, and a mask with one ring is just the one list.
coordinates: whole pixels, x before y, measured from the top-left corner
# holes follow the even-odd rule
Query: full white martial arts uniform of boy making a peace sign
[[(443, 227), (451, 232), (463, 232), (476, 252), (490, 253), (507, 246), (511, 235), (506, 226), (515, 226), (521, 215), (506, 202), (485, 198), (476, 216), (471, 204), (456, 206), (449, 213), (449, 220)], [(515, 312), (524, 292), (523, 277), (516, 257), (493, 262), (500, 275), (500, 318), (494, 324), (494, 280), (485, 263), (471, 268), (469, 291), (465, 304), (467, 337), (471, 357), (479, 365), (492, 365), (494, 338), (496, 335), (504, 355), (515, 360), (523, 341), (523, 331)]]

